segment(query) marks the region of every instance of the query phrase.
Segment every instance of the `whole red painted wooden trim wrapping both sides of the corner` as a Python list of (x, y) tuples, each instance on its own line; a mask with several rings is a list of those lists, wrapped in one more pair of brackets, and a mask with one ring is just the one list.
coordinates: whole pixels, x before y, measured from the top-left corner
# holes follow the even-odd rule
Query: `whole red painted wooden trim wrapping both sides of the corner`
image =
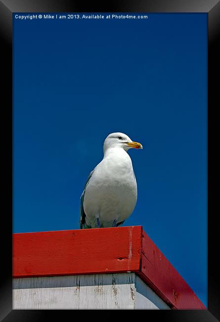
[(142, 226), (13, 234), (14, 278), (128, 271), (173, 309), (206, 309)]

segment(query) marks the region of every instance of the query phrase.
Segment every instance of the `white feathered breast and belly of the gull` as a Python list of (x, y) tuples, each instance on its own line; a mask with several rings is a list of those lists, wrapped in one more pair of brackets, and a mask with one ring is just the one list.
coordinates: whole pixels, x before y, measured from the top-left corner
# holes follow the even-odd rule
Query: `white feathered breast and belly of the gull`
[(86, 214), (121, 219), (131, 215), (137, 199), (132, 161), (124, 150), (111, 153), (96, 166), (85, 191)]

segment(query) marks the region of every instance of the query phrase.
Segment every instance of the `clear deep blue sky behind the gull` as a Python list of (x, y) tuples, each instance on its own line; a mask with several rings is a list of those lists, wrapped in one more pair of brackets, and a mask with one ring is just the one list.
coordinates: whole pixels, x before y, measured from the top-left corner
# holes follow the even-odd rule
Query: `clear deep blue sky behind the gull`
[(144, 231), (207, 305), (207, 15), (14, 19), (13, 231), (79, 229), (111, 132), (130, 150)]

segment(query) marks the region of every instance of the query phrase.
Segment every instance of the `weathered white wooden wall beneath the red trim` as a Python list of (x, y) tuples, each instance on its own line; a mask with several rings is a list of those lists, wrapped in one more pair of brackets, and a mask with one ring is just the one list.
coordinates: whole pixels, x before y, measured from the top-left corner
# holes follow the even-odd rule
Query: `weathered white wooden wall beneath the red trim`
[(13, 309), (169, 309), (135, 273), (16, 278)]

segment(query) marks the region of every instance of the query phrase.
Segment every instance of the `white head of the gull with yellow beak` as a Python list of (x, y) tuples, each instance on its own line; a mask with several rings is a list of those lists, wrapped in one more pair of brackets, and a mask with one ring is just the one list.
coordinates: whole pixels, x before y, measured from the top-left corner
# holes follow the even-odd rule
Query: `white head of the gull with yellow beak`
[(103, 146), (104, 153), (110, 148), (121, 148), (125, 151), (128, 151), (132, 148), (142, 149), (142, 145), (138, 142), (132, 141), (128, 135), (121, 132), (116, 132), (109, 134), (105, 139)]

